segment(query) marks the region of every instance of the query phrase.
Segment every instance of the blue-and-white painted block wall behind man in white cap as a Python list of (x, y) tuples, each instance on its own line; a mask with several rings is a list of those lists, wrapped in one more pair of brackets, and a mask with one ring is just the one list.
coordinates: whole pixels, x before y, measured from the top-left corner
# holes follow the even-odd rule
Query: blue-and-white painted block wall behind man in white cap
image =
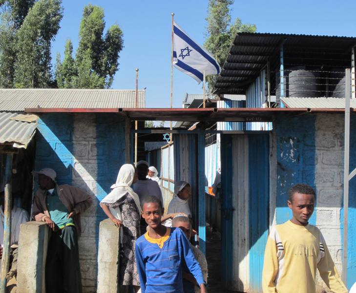
[(40, 119), (35, 168), (55, 169), (59, 184), (81, 188), (93, 198), (81, 215), (79, 253), (84, 293), (96, 292), (99, 223), (105, 218), (99, 202), (125, 164), (125, 121), (109, 113), (53, 113)]

